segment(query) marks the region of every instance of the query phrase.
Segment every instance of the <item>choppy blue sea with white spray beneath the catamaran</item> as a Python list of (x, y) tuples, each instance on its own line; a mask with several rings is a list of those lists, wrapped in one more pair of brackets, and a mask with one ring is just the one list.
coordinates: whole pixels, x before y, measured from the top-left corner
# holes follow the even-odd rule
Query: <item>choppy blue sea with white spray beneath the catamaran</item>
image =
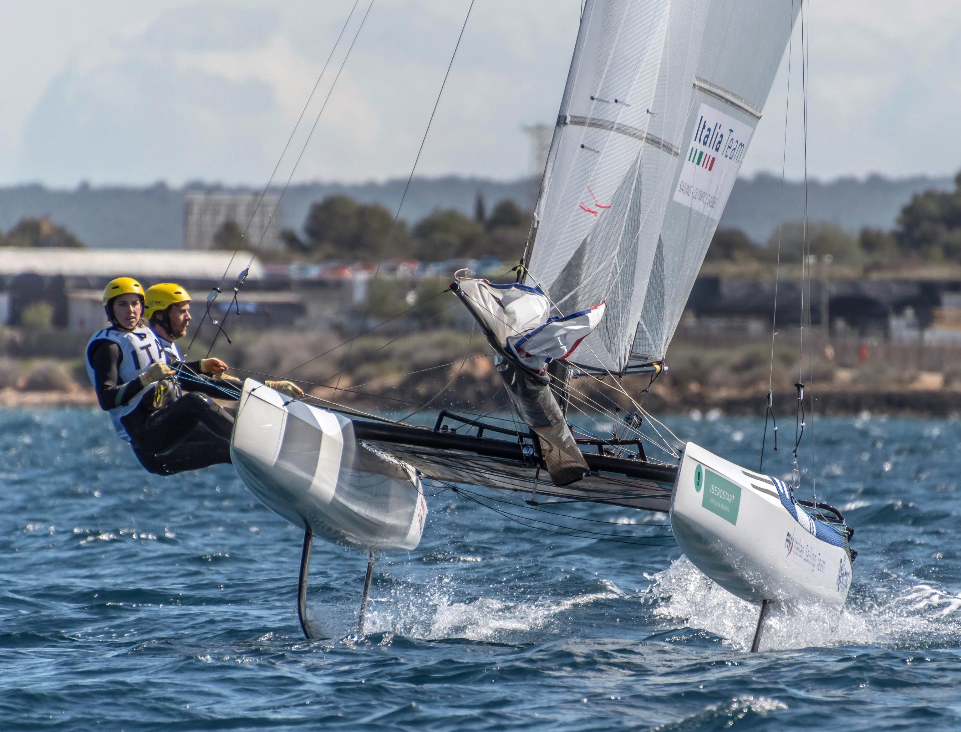
[[(666, 421), (757, 467), (763, 422)], [(765, 470), (790, 478), (781, 421)], [(421, 545), (378, 557), (362, 638), (366, 557), (314, 544), (331, 638), (306, 642), (302, 535), (233, 468), (160, 478), (102, 413), (0, 411), (0, 728), (958, 729), (959, 447), (958, 421), (808, 420), (801, 497), (816, 478), (859, 556), (843, 612), (775, 612), (758, 654), (756, 607), (649, 545), (664, 515), (444, 486)]]

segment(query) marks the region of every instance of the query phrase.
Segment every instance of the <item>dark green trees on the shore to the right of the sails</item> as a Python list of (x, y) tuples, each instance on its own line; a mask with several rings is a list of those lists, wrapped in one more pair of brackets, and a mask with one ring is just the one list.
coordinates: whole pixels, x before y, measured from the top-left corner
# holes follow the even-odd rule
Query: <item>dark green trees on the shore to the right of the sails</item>
[(925, 190), (905, 204), (891, 231), (863, 228), (855, 236), (828, 222), (789, 221), (765, 243), (740, 229), (718, 229), (707, 250), (707, 262), (782, 264), (801, 262), (806, 239), (809, 254), (843, 265), (885, 265), (898, 261), (961, 264), (961, 173), (954, 190)]

